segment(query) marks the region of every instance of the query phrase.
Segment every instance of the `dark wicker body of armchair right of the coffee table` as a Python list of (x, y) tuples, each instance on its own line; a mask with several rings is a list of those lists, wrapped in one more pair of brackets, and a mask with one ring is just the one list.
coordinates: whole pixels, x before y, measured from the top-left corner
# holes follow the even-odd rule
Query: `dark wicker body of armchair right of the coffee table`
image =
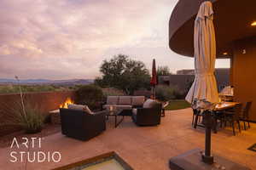
[(153, 126), (160, 124), (162, 104), (154, 104), (152, 108), (137, 108), (137, 113), (132, 113), (132, 120), (139, 126)]

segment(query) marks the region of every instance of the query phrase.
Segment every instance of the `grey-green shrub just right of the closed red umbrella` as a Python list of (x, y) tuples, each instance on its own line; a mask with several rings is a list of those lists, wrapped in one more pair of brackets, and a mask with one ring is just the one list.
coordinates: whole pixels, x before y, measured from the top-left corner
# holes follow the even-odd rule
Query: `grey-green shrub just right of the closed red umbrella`
[(155, 88), (155, 96), (156, 99), (160, 99), (162, 101), (168, 101), (170, 99), (174, 99), (174, 88), (165, 85), (159, 85)]

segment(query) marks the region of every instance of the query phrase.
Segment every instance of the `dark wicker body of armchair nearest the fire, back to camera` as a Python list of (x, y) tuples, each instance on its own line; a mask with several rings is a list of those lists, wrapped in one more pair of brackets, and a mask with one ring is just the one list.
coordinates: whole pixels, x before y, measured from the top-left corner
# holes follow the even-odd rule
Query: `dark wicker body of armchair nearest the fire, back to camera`
[(84, 111), (60, 109), (61, 133), (74, 139), (88, 140), (106, 130), (105, 111), (89, 114)]

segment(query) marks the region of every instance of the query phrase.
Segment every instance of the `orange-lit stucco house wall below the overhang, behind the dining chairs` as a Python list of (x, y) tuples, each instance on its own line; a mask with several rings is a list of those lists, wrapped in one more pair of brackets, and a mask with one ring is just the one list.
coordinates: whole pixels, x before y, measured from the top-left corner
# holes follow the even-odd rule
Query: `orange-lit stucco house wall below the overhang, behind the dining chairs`
[(250, 120), (256, 122), (256, 37), (237, 41), (234, 47), (230, 77), (235, 99), (253, 101)]

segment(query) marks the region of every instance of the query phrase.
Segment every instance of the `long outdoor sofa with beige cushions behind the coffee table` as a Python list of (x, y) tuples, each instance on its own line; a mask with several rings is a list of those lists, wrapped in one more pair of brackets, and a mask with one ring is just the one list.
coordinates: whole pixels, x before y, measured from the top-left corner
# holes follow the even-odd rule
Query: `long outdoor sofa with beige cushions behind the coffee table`
[(102, 105), (102, 109), (109, 110), (113, 107), (117, 110), (122, 110), (120, 115), (131, 116), (133, 108), (142, 107), (145, 101), (145, 96), (108, 96), (106, 104)]

